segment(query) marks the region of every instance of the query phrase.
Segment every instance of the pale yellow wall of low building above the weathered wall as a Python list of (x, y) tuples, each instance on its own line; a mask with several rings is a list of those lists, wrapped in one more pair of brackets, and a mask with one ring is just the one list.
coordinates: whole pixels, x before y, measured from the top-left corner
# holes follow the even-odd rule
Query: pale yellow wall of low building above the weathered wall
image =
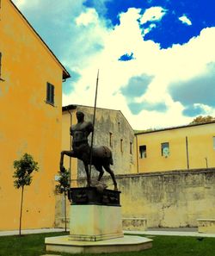
[[(147, 157), (140, 159), (138, 172), (163, 172), (187, 169), (187, 149), (189, 169), (215, 166), (213, 137), (215, 123), (166, 129), (151, 133), (137, 134), (136, 147), (146, 145)], [(187, 147), (186, 147), (187, 137)], [(161, 154), (161, 143), (169, 142), (169, 156)]]

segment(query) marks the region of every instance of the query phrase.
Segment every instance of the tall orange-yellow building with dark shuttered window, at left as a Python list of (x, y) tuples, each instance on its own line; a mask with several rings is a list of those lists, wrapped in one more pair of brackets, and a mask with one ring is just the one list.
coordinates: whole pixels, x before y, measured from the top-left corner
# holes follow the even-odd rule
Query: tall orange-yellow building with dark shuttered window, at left
[(54, 225), (54, 175), (61, 151), (62, 79), (69, 73), (12, 1), (0, 9), (0, 230), (19, 227), (21, 191), (13, 161), (39, 163), (25, 188), (22, 228)]

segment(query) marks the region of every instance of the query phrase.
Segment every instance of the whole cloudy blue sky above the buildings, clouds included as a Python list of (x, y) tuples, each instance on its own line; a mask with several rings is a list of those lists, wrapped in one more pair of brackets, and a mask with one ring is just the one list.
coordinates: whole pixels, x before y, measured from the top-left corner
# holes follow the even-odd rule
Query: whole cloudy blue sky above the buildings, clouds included
[(215, 116), (215, 1), (14, 0), (71, 72), (63, 104), (120, 109), (132, 128)]

